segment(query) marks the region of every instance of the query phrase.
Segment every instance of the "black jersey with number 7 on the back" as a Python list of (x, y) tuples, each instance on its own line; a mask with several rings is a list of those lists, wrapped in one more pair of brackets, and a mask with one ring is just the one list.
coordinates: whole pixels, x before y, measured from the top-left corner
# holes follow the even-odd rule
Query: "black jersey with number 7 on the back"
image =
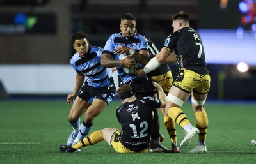
[(184, 27), (166, 38), (163, 48), (175, 51), (180, 70), (209, 74), (200, 35), (191, 27)]

